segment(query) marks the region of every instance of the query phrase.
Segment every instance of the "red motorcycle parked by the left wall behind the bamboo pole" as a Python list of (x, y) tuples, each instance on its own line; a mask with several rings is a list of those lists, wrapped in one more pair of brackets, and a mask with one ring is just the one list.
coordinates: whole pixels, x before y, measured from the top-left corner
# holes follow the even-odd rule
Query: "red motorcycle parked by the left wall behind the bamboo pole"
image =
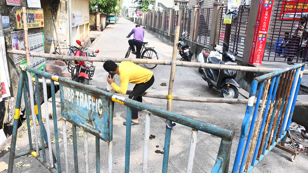
[[(85, 48), (82, 50), (82, 45), (80, 40), (76, 40), (76, 43), (81, 46), (81, 48), (73, 46), (76, 50), (74, 56), (78, 57), (96, 57), (96, 54), (99, 53), (99, 50), (91, 48)], [(68, 71), (71, 73), (73, 81), (89, 85), (89, 80), (92, 79), (95, 71), (95, 66), (92, 61), (69, 61), (67, 66)]]

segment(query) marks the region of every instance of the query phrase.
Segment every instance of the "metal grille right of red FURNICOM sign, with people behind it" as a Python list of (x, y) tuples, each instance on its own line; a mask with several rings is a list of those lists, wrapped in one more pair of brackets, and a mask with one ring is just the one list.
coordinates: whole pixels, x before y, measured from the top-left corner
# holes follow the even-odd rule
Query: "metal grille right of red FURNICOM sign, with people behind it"
[[(288, 61), (289, 57), (289, 61), (292, 59), (296, 62), (305, 62), (308, 34), (305, 32), (302, 35), (296, 34), (300, 18), (307, 16), (307, 3), (304, 2), (306, 1), (278, 0), (274, 4), (263, 61), (283, 62)], [(302, 27), (305, 26), (307, 27), (307, 20), (302, 24)]]

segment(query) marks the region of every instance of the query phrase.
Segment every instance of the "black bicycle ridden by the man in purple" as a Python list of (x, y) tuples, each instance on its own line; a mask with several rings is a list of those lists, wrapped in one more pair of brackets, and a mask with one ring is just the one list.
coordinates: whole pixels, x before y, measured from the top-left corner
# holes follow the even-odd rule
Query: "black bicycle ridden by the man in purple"
[[(146, 45), (148, 45), (148, 42), (143, 42), (142, 49), (140, 51), (142, 52), (140, 58), (158, 59), (159, 57), (156, 51), (153, 49), (154, 47), (145, 47)], [(128, 47), (128, 50), (125, 54), (125, 58), (128, 58), (130, 53), (131, 53), (131, 47)], [(143, 64), (143, 65), (148, 69), (154, 69), (157, 66), (157, 64)]]

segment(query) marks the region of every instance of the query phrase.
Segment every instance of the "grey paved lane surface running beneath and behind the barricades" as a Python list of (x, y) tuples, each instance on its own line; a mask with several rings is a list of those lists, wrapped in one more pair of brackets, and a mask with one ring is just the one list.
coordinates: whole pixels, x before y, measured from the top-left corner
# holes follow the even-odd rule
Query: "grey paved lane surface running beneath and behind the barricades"
[[(116, 25), (109, 25), (107, 29), (100, 32), (100, 36), (93, 42), (92, 48), (99, 49), (99, 55), (105, 57), (121, 57), (124, 58), (128, 49), (128, 39), (126, 35), (135, 27), (136, 24), (121, 18)], [(96, 33), (96, 32), (95, 32)], [(162, 43), (158, 38), (152, 36), (145, 31), (144, 41), (149, 42), (148, 46), (155, 47), (160, 59), (171, 60), (172, 46)], [(131, 55), (134, 57), (134, 55)], [(177, 55), (177, 60), (180, 55)], [(107, 72), (104, 71), (103, 63), (95, 62), (95, 75), (90, 81), (91, 85), (99, 85), (106, 87)], [(144, 65), (141, 65), (144, 67)], [(157, 94), (168, 93), (168, 83), (170, 77), (170, 66), (158, 65), (152, 70), (155, 76), (155, 82), (148, 92)], [(115, 76), (116, 83), (119, 84), (119, 77)], [(166, 83), (167, 86), (162, 86)], [(128, 89), (132, 89), (134, 85), (129, 84)], [(248, 93), (240, 90), (245, 96)], [(200, 97), (219, 97), (220, 92), (216, 89), (210, 89), (206, 82), (201, 78), (197, 68), (176, 67), (176, 75), (174, 81), (174, 96), (200, 96)], [(127, 95), (125, 95), (127, 97)], [(240, 96), (239, 98), (243, 98)], [(144, 98), (146, 104), (154, 107), (166, 109), (166, 100)], [(211, 123), (227, 129), (235, 131), (233, 140), (229, 172), (232, 170), (235, 153), (239, 135), (241, 132), (241, 123), (245, 114), (245, 104), (219, 104), (219, 103), (194, 103), (183, 101), (172, 101), (172, 112), (185, 115), (189, 118)], [(126, 119), (126, 107), (115, 103), (113, 118), (113, 172), (124, 172), (125, 161), (125, 131), (126, 127), (122, 125)], [(132, 140), (131, 140), (131, 160), (130, 172), (142, 172), (142, 156), (143, 156), (143, 139), (144, 139), (144, 112), (140, 112), (140, 125), (132, 126)], [(60, 115), (58, 115), (60, 116)], [(52, 120), (50, 121), (51, 124)], [(63, 131), (61, 121), (58, 121), (59, 131)], [(51, 127), (53, 129), (53, 127)], [(79, 132), (81, 129), (77, 129)], [(67, 125), (67, 132), (70, 135), (68, 139), (69, 150), (69, 168), (70, 172), (74, 170), (73, 149), (71, 145), (71, 125)], [(33, 133), (33, 130), (32, 130)], [(165, 134), (165, 120), (156, 116), (151, 116), (150, 134), (155, 135), (156, 138), (150, 140), (149, 143), (149, 157), (148, 157), (148, 172), (161, 172), (163, 155), (155, 153), (155, 150), (163, 151), (164, 134)], [(32, 134), (33, 135), (33, 134)], [(53, 136), (53, 134), (52, 134)], [(174, 127), (171, 135), (171, 149), (169, 157), (168, 172), (186, 172), (186, 165), (188, 159), (188, 151), (190, 144), (191, 129), (183, 125), (177, 124)], [(63, 137), (60, 133), (59, 137)], [(25, 151), (27, 145), (27, 132), (22, 133), (17, 140), (17, 145), (20, 151)], [(33, 137), (32, 137), (33, 139)], [(95, 172), (95, 138), (89, 136), (89, 168), (90, 172)], [(199, 132), (197, 136), (196, 155), (194, 159), (193, 172), (203, 173), (210, 172), (219, 149), (221, 139), (213, 135)], [(54, 145), (54, 144), (53, 144)], [(156, 145), (159, 147), (156, 148)], [(60, 142), (61, 165), (64, 169), (64, 154), (63, 154), (63, 140)], [(48, 152), (47, 152), (48, 153)], [(101, 172), (107, 172), (107, 143), (101, 140)], [(261, 163), (253, 169), (254, 173), (264, 172), (306, 172), (308, 170), (306, 155), (300, 153), (295, 162), (290, 162), (290, 154), (274, 148)], [(0, 153), (0, 161), (8, 163), (9, 150)], [(78, 134), (78, 163), (79, 172), (84, 172), (84, 156), (83, 156), (83, 135)], [(19, 163), (22, 162), (22, 163)], [(14, 172), (48, 172), (43, 165), (36, 161), (32, 156), (18, 158), (14, 163), (18, 165), (28, 164), (29, 167), (14, 167)], [(16, 170), (19, 169), (19, 170)]]

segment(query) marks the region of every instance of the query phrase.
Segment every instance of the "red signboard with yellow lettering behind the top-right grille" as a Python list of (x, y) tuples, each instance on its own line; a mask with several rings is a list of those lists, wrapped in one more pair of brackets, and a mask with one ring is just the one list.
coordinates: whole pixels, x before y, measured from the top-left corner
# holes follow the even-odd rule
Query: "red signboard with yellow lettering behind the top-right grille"
[(282, 2), (280, 19), (299, 20), (302, 15), (308, 14), (307, 0), (287, 0)]

